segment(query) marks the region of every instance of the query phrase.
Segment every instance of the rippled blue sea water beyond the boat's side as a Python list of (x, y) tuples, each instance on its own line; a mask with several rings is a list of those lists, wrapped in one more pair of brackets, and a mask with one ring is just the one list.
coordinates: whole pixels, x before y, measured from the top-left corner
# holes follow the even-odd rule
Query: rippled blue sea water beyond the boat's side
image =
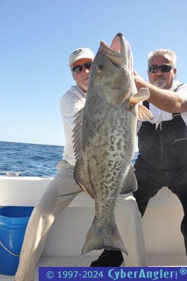
[[(133, 163), (138, 152), (133, 159)], [(0, 174), (51, 177), (62, 159), (63, 146), (0, 141)]]

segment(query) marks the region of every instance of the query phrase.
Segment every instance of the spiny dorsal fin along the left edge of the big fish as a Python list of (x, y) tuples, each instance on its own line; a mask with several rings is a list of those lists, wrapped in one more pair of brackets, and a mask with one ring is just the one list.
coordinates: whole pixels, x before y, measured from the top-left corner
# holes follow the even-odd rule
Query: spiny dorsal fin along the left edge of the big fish
[(83, 139), (82, 139), (82, 124), (84, 117), (84, 108), (80, 110), (77, 115), (75, 115), (75, 128), (73, 129), (73, 143), (75, 149), (75, 158), (76, 164), (74, 169), (74, 178), (76, 183), (79, 185), (84, 192), (88, 193), (93, 197), (93, 192), (91, 190), (91, 185), (89, 182), (89, 171), (87, 166), (87, 156), (86, 151), (83, 148)]

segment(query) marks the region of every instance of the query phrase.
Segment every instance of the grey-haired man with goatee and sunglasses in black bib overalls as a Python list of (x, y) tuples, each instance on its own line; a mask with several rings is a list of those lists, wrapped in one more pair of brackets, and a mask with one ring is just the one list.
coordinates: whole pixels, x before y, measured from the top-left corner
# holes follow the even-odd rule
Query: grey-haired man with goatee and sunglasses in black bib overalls
[[(147, 87), (150, 98), (143, 102), (153, 113), (149, 122), (138, 121), (139, 155), (134, 165), (138, 190), (134, 197), (141, 216), (151, 197), (167, 186), (179, 197), (183, 207), (181, 233), (187, 254), (187, 84), (176, 78), (176, 55), (168, 49), (148, 54), (150, 84), (134, 72), (137, 90)], [(103, 251), (99, 259), (122, 263), (120, 251)], [(99, 262), (99, 259), (96, 263)]]

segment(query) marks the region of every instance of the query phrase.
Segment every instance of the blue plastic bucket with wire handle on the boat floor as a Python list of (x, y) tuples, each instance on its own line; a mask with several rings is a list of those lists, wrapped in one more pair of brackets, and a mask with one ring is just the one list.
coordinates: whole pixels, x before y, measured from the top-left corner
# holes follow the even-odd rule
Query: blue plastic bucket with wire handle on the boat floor
[(34, 207), (0, 207), (0, 274), (15, 275)]

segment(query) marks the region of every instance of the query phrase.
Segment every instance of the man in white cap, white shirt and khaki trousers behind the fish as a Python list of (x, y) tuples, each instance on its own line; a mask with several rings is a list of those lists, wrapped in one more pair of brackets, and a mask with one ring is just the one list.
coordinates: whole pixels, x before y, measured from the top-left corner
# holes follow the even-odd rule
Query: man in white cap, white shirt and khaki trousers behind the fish
[[(75, 155), (72, 129), (75, 126), (73, 123), (75, 115), (84, 107), (86, 101), (93, 58), (94, 54), (89, 48), (77, 48), (70, 54), (69, 66), (76, 85), (71, 86), (60, 99), (60, 111), (65, 130), (63, 159), (58, 163), (56, 176), (30, 217), (15, 281), (34, 281), (34, 268), (37, 266), (53, 222), (70, 202), (82, 192), (79, 185), (75, 183), (73, 176)], [(124, 255), (123, 257), (125, 266), (146, 266), (141, 216), (133, 195), (127, 195), (125, 198), (119, 195), (115, 217), (129, 254), (129, 256)], [(102, 261), (101, 257), (95, 264), (93, 262), (91, 266), (120, 266), (118, 262), (116, 263), (114, 256), (110, 261), (108, 259)]]

